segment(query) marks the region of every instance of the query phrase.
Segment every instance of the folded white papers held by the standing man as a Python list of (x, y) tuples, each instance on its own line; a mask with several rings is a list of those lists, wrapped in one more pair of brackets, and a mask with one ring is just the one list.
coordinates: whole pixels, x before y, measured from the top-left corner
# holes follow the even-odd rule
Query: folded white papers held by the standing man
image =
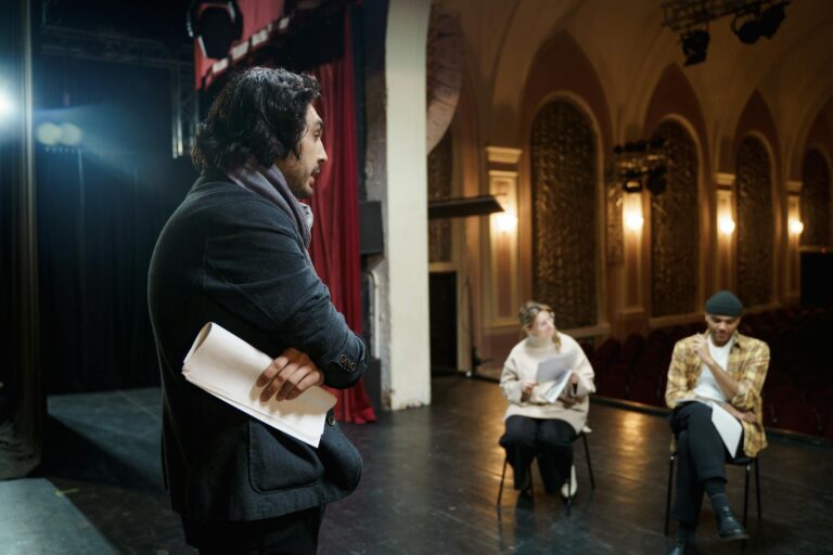
[(313, 386), (297, 399), (266, 403), (257, 377), (272, 359), (240, 337), (209, 322), (203, 326), (185, 356), (182, 374), (195, 386), (284, 434), (318, 447), (326, 412), (335, 397)]

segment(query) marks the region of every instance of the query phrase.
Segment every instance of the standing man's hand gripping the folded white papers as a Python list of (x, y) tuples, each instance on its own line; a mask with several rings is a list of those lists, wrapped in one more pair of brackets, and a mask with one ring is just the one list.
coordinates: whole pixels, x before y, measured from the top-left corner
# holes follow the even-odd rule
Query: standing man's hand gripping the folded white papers
[(324, 383), (324, 374), (305, 352), (293, 347), (284, 350), (257, 378), (257, 387), (262, 387), (260, 402), (268, 402), (271, 397), (278, 401), (291, 401), (312, 386)]

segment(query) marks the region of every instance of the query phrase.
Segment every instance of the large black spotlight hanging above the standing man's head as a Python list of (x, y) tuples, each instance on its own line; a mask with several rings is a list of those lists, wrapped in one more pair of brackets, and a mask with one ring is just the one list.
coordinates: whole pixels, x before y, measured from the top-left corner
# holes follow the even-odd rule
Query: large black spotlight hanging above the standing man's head
[(219, 60), (243, 36), (243, 14), (238, 2), (193, 0), (188, 10), (188, 34), (197, 39), (205, 57)]

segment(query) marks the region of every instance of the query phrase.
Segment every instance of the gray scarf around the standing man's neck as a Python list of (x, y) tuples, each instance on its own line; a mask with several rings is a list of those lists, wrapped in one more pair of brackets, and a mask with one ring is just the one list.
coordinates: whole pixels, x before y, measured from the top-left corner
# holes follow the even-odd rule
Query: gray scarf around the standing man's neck
[(289, 216), (304, 240), (306, 247), (304, 255), (307, 257), (307, 263), (311, 267), (312, 260), (309, 258), (308, 248), (312, 238), (312, 208), (295, 198), (286, 183), (286, 178), (283, 177), (278, 166), (272, 164), (271, 167), (265, 168), (249, 160), (242, 166), (227, 170), (226, 175), (243, 189), (271, 201)]

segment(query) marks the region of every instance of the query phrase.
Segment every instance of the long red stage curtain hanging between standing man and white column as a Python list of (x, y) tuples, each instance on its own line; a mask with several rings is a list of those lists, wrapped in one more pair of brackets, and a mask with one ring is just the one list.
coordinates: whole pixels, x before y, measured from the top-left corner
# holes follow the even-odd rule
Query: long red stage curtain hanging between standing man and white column
[[(344, 20), (344, 57), (311, 72), (321, 83), (317, 109), (324, 120), (323, 141), (329, 162), (321, 168), (312, 195), (316, 219), (310, 255), (318, 275), (330, 287), (333, 304), (350, 330), (361, 333), (359, 168), (349, 10), (345, 11)], [(331, 392), (338, 398), (336, 418), (357, 424), (375, 422), (363, 378), (349, 389), (331, 389)]]

